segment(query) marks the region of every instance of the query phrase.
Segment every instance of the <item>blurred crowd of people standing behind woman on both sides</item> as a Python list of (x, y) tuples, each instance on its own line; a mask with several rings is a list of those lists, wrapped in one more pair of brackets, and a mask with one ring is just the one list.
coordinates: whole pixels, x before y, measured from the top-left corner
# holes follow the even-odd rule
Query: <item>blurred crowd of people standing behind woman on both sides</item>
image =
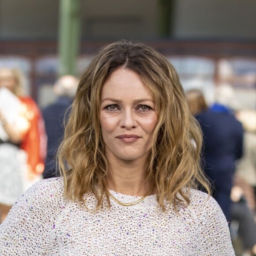
[[(243, 255), (256, 255), (256, 114), (234, 107), (228, 82), (216, 83), (211, 104), (202, 90), (187, 90), (188, 107), (203, 132), (202, 164), (212, 196), (233, 241), (242, 241)], [(56, 152), (77, 86), (76, 77), (60, 77), (53, 85), (56, 100), (40, 109), (24, 96), (23, 74), (0, 69), (0, 223), (31, 184), (58, 176)]]

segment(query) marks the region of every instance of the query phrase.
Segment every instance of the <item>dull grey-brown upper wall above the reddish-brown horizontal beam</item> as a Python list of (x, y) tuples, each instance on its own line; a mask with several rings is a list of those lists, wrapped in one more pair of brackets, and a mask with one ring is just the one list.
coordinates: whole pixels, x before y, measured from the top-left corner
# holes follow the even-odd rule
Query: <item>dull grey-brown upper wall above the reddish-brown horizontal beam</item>
[[(56, 40), (59, 0), (0, 0), (0, 39)], [(159, 38), (159, 0), (81, 0), (82, 38)], [(255, 0), (172, 0), (175, 39), (256, 40)]]

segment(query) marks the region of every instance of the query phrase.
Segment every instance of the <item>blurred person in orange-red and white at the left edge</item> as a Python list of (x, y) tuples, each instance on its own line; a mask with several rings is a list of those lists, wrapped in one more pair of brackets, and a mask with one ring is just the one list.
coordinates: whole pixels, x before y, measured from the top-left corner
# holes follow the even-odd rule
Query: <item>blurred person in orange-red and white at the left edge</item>
[(34, 100), (23, 95), (23, 82), (18, 69), (0, 69), (0, 222), (44, 170), (44, 121)]

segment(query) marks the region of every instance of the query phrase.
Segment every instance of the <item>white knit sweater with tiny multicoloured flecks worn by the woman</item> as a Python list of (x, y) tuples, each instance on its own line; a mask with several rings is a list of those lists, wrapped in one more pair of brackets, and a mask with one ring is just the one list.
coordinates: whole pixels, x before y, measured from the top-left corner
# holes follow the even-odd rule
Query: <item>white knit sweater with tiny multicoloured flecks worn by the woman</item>
[[(191, 191), (191, 204), (163, 212), (155, 196), (91, 212), (63, 196), (62, 178), (39, 181), (0, 226), (0, 255), (234, 255), (226, 219), (213, 198)], [(135, 196), (110, 191), (122, 202)], [(87, 206), (96, 200), (86, 195)]]

